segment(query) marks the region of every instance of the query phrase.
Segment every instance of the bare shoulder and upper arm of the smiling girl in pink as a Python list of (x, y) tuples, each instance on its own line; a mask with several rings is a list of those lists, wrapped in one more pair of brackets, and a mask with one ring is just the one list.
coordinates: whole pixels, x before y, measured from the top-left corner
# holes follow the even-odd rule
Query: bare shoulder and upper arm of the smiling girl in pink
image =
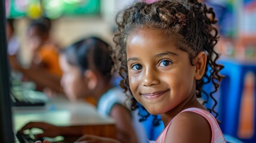
[(199, 113), (183, 111), (172, 120), (166, 133), (169, 142), (211, 142), (211, 125)]

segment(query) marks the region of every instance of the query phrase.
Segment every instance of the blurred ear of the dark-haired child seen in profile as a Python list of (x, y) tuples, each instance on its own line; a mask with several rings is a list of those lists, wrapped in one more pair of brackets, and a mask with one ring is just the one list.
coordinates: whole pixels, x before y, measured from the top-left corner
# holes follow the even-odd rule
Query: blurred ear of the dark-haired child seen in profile
[(90, 90), (95, 89), (98, 83), (98, 77), (96, 73), (92, 70), (85, 70), (84, 76), (87, 80), (87, 88)]

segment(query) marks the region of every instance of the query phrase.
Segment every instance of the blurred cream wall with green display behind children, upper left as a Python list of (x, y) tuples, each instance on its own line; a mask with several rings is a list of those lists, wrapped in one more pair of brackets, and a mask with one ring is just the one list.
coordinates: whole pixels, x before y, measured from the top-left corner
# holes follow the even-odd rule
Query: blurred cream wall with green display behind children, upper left
[(6, 16), (14, 19), (14, 29), (21, 43), (21, 63), (27, 64), (26, 30), (30, 20), (51, 20), (51, 38), (63, 48), (85, 36), (100, 36), (112, 42), (115, 14), (132, 1), (101, 0), (5, 0)]

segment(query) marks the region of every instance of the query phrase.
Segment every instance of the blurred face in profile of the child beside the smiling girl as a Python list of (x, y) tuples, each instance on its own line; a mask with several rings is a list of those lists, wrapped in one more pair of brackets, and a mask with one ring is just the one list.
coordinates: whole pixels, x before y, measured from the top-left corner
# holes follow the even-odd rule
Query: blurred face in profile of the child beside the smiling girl
[(75, 101), (77, 98), (83, 97), (88, 89), (84, 75), (81, 74), (79, 68), (67, 63), (64, 54), (60, 56), (60, 67), (63, 71), (61, 86), (69, 100)]

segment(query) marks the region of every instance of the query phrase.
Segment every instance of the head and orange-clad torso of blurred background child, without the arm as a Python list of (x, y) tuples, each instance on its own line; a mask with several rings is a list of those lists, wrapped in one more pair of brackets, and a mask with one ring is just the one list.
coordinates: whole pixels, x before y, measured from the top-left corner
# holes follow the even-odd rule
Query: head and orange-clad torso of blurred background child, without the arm
[(27, 29), (29, 48), (32, 51), (33, 64), (41, 66), (50, 73), (61, 76), (58, 64), (58, 47), (50, 41), (50, 31), (45, 23), (32, 21)]

